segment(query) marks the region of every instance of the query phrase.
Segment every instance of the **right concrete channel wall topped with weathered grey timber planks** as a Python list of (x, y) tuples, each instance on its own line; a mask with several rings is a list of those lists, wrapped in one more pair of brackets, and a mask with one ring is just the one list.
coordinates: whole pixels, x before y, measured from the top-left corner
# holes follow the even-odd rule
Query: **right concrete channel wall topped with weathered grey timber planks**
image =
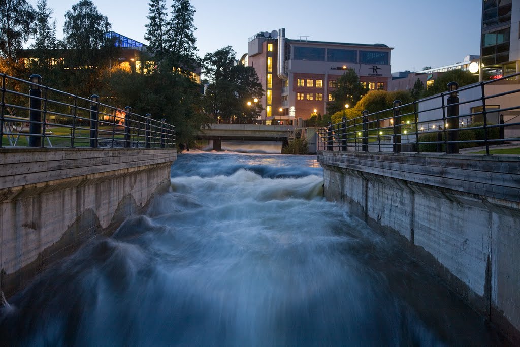
[(520, 341), (520, 158), (318, 152), (327, 199), (398, 235)]

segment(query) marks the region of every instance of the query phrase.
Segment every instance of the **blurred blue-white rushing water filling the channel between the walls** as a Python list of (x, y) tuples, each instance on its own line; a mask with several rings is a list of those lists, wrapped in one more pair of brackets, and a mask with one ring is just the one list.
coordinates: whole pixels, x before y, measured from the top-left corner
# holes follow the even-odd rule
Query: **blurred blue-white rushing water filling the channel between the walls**
[(495, 342), (482, 318), (392, 241), (323, 200), (322, 181), (314, 157), (179, 156), (171, 191), (146, 215), (11, 298), (0, 342)]

